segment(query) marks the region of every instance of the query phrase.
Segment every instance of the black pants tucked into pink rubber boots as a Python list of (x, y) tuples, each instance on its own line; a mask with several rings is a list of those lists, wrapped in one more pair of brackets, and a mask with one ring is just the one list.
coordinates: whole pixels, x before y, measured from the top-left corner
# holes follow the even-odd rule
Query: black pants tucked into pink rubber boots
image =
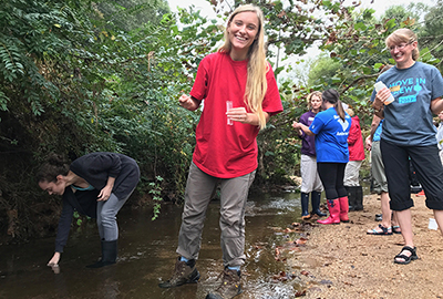
[(317, 163), (327, 199), (337, 199), (348, 195), (343, 186), (346, 163)]

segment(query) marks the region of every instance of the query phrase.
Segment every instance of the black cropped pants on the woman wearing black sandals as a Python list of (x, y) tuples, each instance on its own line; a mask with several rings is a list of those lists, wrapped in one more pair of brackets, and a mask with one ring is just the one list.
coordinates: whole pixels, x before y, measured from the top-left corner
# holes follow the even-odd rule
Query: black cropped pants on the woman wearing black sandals
[(443, 167), (436, 145), (400, 146), (382, 140), (380, 147), (392, 210), (414, 206), (409, 178), (410, 158), (426, 195), (426, 206), (443, 209)]

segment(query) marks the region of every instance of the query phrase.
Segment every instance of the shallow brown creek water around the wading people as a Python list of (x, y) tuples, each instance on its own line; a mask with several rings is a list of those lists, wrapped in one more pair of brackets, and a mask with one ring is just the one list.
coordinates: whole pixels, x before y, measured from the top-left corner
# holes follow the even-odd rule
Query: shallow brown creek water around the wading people
[[(293, 298), (297, 279), (274, 279), (287, 269), (275, 259), (275, 248), (288, 238), (276, 227), (286, 228), (299, 220), (300, 194), (255, 194), (248, 199), (246, 214), (246, 255), (243, 268), (245, 298)], [(72, 231), (60, 267), (45, 266), (53, 254), (54, 238), (25, 245), (0, 247), (0, 298), (205, 298), (217, 285), (223, 269), (218, 226), (219, 203), (207, 210), (197, 269), (198, 283), (161, 289), (175, 264), (182, 208), (164, 205), (158, 219), (152, 221), (147, 209), (124, 208), (119, 213), (120, 239), (116, 265), (100, 269), (85, 268), (100, 256), (94, 224), (83, 231)], [(58, 272), (58, 274), (56, 274)]]

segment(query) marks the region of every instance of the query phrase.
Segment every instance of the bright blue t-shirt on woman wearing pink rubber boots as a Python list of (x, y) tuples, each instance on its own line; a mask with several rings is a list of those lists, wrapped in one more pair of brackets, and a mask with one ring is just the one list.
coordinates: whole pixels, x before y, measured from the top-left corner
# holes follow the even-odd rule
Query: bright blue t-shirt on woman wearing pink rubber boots
[(349, 162), (348, 135), (351, 122), (348, 113), (343, 122), (334, 107), (317, 113), (309, 126), (316, 134), (317, 162)]

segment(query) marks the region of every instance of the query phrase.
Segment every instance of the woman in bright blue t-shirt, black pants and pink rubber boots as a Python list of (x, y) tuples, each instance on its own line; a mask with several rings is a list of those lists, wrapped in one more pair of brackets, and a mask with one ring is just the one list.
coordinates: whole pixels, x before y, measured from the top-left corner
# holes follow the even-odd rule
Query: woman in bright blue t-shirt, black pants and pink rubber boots
[(351, 117), (344, 112), (340, 94), (333, 90), (322, 93), (322, 107), (308, 127), (295, 123), (295, 128), (316, 135), (317, 169), (323, 184), (330, 216), (319, 224), (348, 223), (348, 193), (343, 185), (344, 168), (349, 161), (348, 135)]

